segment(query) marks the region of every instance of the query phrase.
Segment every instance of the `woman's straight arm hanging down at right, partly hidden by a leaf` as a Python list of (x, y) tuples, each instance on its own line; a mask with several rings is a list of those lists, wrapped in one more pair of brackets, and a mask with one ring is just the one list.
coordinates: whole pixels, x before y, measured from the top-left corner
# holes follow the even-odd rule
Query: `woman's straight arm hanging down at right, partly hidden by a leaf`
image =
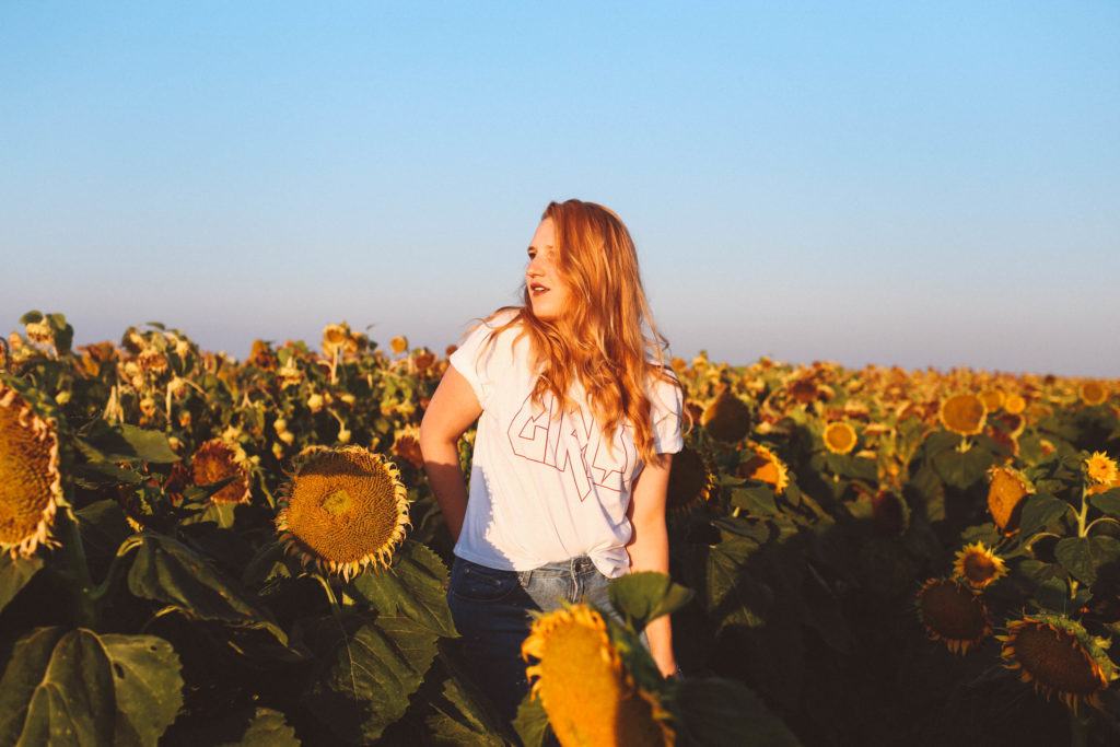
[[(669, 491), (669, 470), (673, 455), (663, 455), (665, 464), (656, 467), (647, 464), (634, 480), (626, 515), (629, 516), (633, 533), (626, 543), (631, 558), (631, 571), (661, 571), (669, 575), (669, 531), (665, 529), (665, 494)], [(657, 663), (662, 675), (676, 671), (673, 655), (672, 629), (669, 615), (651, 622), (645, 628), (650, 638), (650, 653)]]

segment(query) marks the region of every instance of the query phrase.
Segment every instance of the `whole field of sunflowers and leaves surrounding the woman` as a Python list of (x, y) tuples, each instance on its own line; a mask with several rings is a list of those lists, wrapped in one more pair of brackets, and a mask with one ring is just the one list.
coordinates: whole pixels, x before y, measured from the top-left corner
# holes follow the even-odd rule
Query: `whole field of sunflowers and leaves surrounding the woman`
[(19, 325), (0, 744), (1120, 744), (1120, 381), (673, 358), (671, 573), (536, 619), (511, 730), (419, 448), (454, 348)]

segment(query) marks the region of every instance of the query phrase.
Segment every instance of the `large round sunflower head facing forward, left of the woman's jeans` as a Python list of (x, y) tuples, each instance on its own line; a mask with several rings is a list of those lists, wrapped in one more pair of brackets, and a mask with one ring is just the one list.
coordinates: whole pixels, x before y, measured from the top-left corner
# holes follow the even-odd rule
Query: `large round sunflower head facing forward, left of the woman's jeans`
[(344, 579), (388, 567), (411, 526), (396, 465), (361, 446), (311, 446), (296, 461), (276, 520), (287, 551)]

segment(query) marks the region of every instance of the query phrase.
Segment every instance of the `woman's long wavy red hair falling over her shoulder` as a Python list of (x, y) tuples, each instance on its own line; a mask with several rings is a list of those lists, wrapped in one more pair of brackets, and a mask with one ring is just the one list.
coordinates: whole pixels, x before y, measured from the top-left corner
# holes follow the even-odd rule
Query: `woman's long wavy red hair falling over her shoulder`
[[(669, 339), (654, 324), (634, 240), (618, 214), (597, 203), (553, 200), (541, 215), (541, 221), (545, 218), (552, 218), (557, 272), (570, 289), (571, 306), (554, 321), (538, 318), (523, 277), (522, 305), (503, 306), (485, 318), (489, 321), (504, 311), (517, 311), (491, 332), (487, 343), (493, 344), (497, 334), (521, 321), (514, 342), (529, 337), (531, 364), (540, 370), (531, 401), (543, 409), (544, 393), (551, 391), (563, 412), (575, 413), (579, 404), (568, 396), (568, 391), (572, 379), (578, 377), (608, 450), (613, 452), (614, 446), (609, 435), (625, 421), (634, 429), (634, 445), (642, 460), (661, 466), (661, 455), (654, 451), (652, 401), (646, 384), (651, 384), (651, 392), (652, 379), (682, 387), (665, 362)], [(643, 332), (643, 323), (648, 325), (652, 337)], [(683, 391), (681, 394), (683, 401)], [(687, 409), (682, 417), (691, 429)]]

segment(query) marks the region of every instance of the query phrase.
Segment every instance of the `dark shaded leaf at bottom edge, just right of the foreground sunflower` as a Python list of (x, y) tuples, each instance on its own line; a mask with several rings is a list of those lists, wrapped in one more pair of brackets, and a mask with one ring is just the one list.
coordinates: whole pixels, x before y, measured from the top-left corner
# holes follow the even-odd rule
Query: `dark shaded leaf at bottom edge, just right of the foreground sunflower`
[(685, 679), (676, 690), (678, 741), (704, 747), (800, 747), (801, 743), (745, 684)]

